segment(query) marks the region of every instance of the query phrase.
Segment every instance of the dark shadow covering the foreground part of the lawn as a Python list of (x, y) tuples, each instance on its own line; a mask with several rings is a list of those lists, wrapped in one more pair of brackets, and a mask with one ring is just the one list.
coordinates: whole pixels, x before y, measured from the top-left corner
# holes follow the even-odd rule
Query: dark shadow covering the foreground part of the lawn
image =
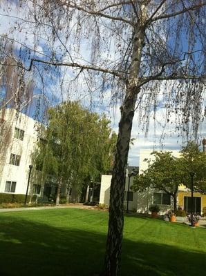
[[(101, 271), (105, 235), (1, 219), (0, 275), (78, 276)], [(204, 275), (205, 254), (124, 239), (122, 275)]]

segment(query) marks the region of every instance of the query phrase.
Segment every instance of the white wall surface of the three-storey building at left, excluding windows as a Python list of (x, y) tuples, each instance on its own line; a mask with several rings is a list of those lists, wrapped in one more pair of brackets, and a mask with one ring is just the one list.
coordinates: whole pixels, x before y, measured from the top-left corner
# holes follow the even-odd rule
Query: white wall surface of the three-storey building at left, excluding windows
[[(29, 165), (31, 164), (30, 155), (37, 143), (36, 126), (39, 123), (22, 113), (19, 113), (18, 117), (16, 114), (16, 110), (10, 108), (0, 112), (0, 118), (3, 118), (5, 124), (10, 126), (10, 142), (6, 150), (3, 151), (5, 157), (0, 164), (0, 193), (4, 193), (6, 181), (15, 181), (17, 182), (15, 193), (26, 194)], [(24, 130), (23, 141), (14, 137), (15, 127)], [(11, 153), (21, 156), (19, 166), (9, 164)], [(32, 170), (34, 169), (32, 168)]]

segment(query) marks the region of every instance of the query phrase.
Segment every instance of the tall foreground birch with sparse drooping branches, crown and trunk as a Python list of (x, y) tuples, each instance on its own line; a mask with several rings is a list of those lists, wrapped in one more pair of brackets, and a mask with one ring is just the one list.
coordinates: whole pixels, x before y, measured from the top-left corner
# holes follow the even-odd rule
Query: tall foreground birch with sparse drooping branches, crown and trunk
[(102, 274), (118, 275), (125, 166), (134, 112), (140, 110), (147, 131), (151, 109), (155, 117), (161, 104), (166, 125), (175, 117), (177, 130), (196, 137), (205, 104), (206, 2), (21, 0), (11, 6), (19, 8), (17, 23), (13, 37), (4, 39), (24, 33), (19, 68), (36, 73), (44, 70), (43, 77), (51, 66), (62, 68), (61, 77), (66, 75), (70, 91), (81, 90), (81, 97), (84, 88), (91, 95), (97, 91), (108, 97), (110, 93), (112, 100), (121, 103)]

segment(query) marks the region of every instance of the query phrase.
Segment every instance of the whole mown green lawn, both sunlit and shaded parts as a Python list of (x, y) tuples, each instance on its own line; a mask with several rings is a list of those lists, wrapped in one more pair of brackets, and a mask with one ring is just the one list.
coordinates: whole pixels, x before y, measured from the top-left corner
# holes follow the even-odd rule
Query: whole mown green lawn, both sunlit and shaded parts
[[(108, 213), (72, 208), (0, 214), (0, 275), (100, 272)], [(125, 217), (122, 275), (205, 275), (206, 228)]]

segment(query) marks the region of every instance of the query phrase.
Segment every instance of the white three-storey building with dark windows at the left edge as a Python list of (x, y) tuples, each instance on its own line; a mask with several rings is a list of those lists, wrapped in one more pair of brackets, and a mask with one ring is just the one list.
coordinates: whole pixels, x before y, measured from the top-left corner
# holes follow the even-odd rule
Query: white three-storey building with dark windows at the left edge
[[(0, 193), (26, 194), (38, 126), (37, 121), (15, 109), (0, 110)], [(40, 194), (41, 185), (34, 179), (31, 182), (32, 194)]]

